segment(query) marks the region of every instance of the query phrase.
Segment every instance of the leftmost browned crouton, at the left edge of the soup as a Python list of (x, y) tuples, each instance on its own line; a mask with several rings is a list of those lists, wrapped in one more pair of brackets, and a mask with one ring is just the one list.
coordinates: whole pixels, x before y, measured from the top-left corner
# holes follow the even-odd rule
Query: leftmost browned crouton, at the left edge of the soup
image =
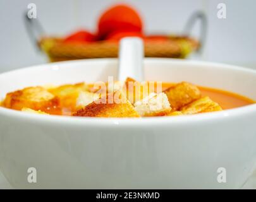
[(58, 114), (59, 99), (40, 86), (24, 88), (8, 93), (3, 102), (4, 107), (21, 110), (30, 108), (33, 110), (52, 110), (52, 114)]

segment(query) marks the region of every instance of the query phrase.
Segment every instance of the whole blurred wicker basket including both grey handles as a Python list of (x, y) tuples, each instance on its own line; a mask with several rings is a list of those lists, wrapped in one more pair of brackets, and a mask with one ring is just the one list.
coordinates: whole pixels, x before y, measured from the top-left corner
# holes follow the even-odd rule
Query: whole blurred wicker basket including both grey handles
[[(200, 40), (187, 37), (197, 20), (201, 21)], [(50, 61), (66, 61), (73, 59), (118, 57), (118, 42), (99, 41), (83, 44), (64, 43), (56, 37), (42, 37), (44, 32), (38, 20), (25, 18), (25, 25), (32, 42), (45, 52)], [(207, 21), (204, 13), (197, 11), (188, 20), (184, 36), (168, 36), (169, 40), (145, 41), (145, 57), (185, 58), (193, 51), (202, 51)]]

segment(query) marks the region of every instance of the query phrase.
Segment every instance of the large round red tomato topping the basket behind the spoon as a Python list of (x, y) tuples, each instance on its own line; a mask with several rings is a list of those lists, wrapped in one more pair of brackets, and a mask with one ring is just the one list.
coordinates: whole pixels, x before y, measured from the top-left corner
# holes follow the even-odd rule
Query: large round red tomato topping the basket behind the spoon
[(110, 33), (123, 30), (142, 32), (142, 20), (135, 9), (124, 4), (119, 4), (107, 9), (99, 18), (99, 39), (105, 39)]

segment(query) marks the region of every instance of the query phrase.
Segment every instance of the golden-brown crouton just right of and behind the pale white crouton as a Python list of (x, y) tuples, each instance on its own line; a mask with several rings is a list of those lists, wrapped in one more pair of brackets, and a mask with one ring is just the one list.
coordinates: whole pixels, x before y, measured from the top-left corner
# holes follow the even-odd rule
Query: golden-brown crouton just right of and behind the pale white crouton
[(197, 86), (186, 82), (181, 82), (175, 86), (171, 86), (164, 92), (171, 103), (171, 107), (176, 110), (181, 109), (181, 107), (190, 104), (201, 97), (200, 90)]

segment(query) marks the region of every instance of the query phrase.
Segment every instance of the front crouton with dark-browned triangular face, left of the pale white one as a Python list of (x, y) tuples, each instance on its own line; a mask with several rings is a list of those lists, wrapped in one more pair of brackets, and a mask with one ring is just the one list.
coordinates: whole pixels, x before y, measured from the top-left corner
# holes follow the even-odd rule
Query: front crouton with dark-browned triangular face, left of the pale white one
[(86, 105), (73, 116), (83, 117), (140, 117), (133, 105), (121, 91), (109, 93), (106, 97)]

